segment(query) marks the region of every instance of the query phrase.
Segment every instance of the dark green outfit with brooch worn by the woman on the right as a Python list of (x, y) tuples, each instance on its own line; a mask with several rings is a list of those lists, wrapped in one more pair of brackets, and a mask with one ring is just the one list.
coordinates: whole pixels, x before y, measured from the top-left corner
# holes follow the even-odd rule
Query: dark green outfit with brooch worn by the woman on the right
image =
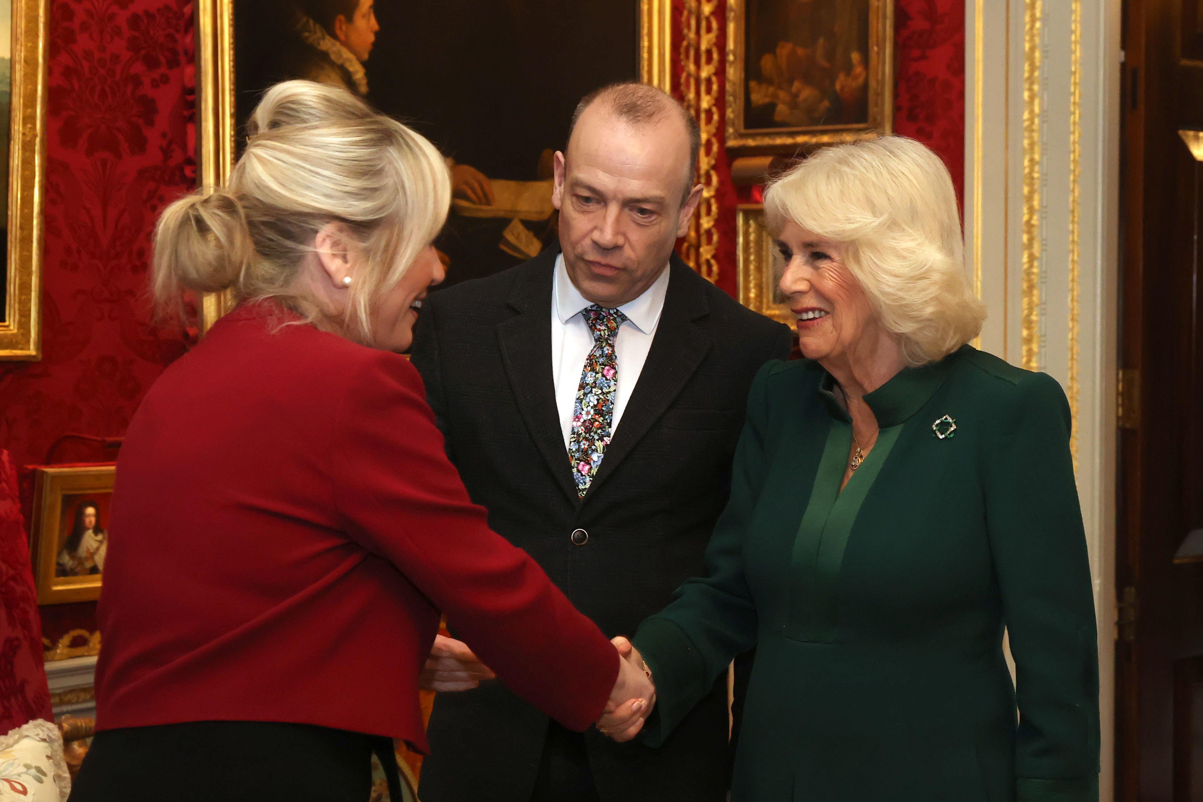
[(757, 375), (709, 575), (633, 638), (657, 688), (645, 739), (755, 647), (733, 802), (1097, 800), (1061, 387), (970, 346), (905, 369), (865, 397), (881, 434), (842, 493), (852, 426), (832, 388), (810, 361)]

